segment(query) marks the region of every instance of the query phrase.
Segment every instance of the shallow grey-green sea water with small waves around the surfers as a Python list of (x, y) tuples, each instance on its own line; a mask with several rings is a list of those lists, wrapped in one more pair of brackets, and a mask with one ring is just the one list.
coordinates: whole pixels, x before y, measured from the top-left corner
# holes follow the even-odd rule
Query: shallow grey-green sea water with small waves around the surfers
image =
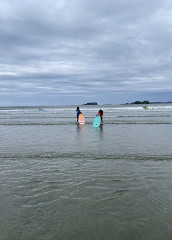
[(0, 240), (171, 239), (172, 104), (148, 108), (1, 107)]

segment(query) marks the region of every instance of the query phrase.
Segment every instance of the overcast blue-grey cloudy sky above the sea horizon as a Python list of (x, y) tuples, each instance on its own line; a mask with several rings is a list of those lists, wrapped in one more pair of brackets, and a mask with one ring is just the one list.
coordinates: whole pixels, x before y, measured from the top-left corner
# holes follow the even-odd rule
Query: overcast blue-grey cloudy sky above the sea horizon
[(0, 105), (172, 101), (172, 1), (0, 0)]

